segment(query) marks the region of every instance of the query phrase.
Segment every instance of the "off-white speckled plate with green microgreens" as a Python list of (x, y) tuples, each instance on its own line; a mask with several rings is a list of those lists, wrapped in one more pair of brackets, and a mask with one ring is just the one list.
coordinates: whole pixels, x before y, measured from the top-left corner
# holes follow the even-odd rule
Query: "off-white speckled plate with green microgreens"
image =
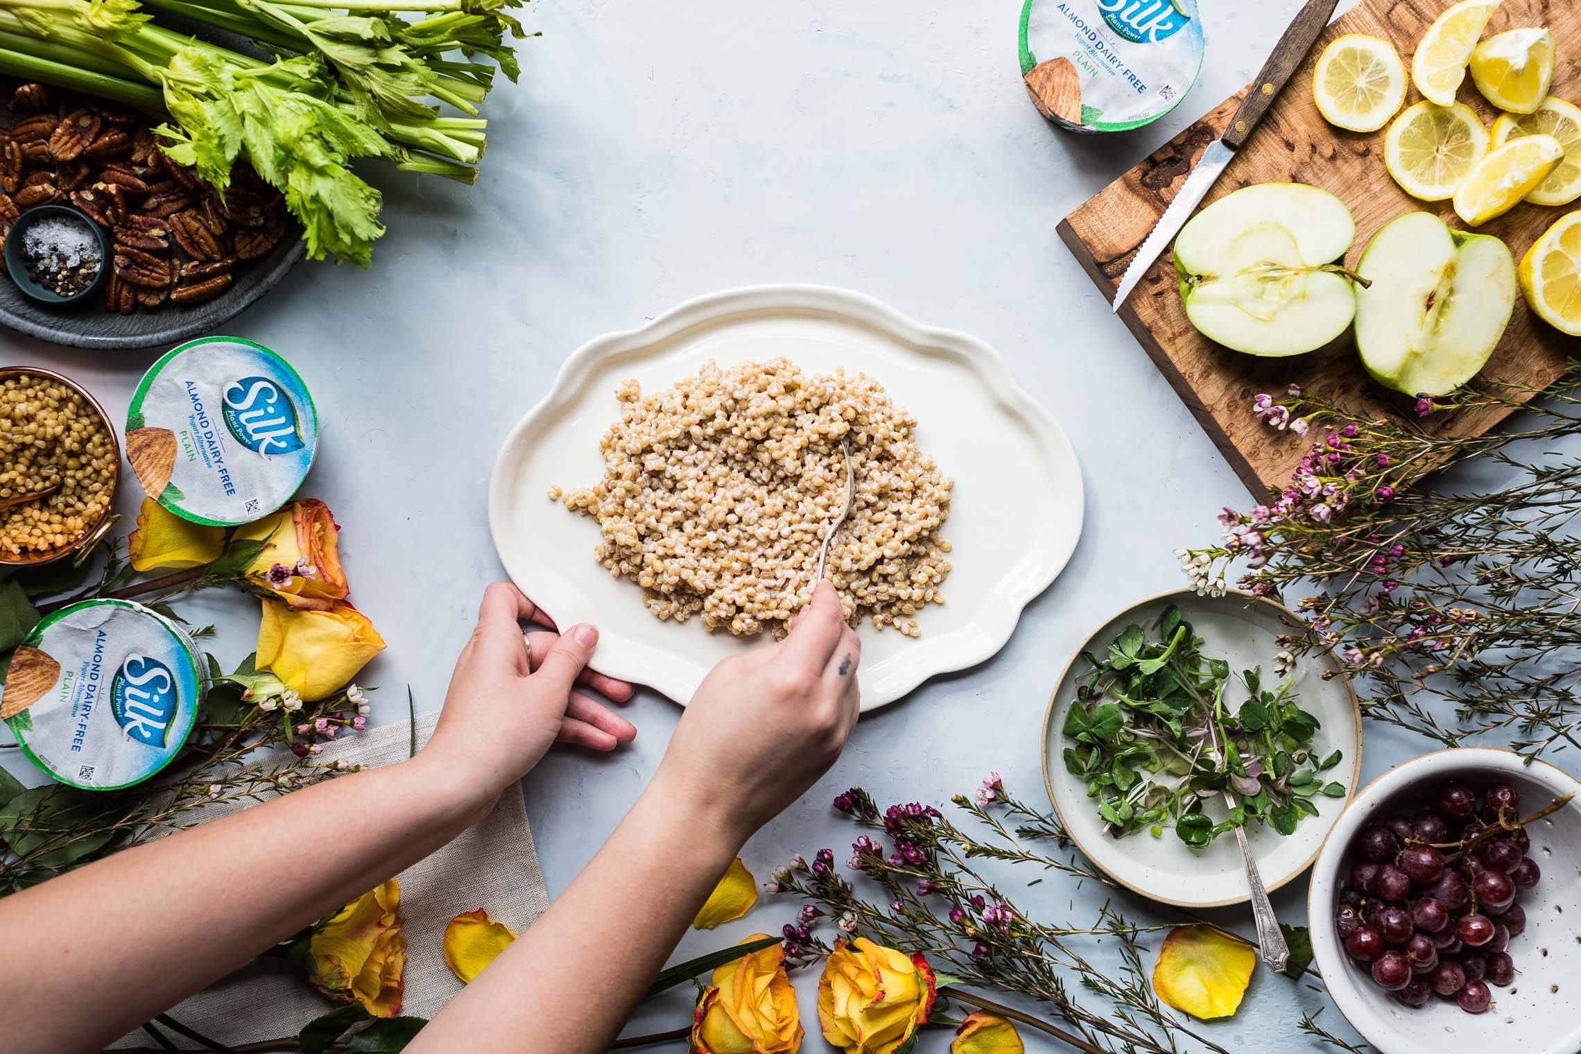
[(1304, 632), (1279, 604), (1179, 589), (1077, 649), (1043, 721), (1043, 782), (1110, 879), (1178, 907), (1243, 904), (1236, 819), (1270, 890), (1311, 866), (1355, 790), (1361, 714), (1326, 649), (1296, 654)]

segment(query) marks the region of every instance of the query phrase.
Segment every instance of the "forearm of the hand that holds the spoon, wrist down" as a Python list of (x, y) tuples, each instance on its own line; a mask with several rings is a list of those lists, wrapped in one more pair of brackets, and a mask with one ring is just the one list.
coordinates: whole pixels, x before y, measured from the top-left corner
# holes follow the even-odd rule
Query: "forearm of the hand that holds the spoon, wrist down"
[(607, 1051), (745, 841), (675, 790), (655, 777), (549, 912), (406, 1049)]

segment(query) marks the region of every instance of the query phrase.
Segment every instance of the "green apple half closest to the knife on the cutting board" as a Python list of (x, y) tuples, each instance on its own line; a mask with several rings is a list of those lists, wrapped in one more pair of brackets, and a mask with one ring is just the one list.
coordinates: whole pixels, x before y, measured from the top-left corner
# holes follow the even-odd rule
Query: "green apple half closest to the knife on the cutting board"
[(1345, 204), (1306, 183), (1257, 183), (1225, 194), (1175, 239), (1186, 318), (1249, 356), (1300, 356), (1345, 332), (1356, 313), (1334, 262), (1356, 224)]

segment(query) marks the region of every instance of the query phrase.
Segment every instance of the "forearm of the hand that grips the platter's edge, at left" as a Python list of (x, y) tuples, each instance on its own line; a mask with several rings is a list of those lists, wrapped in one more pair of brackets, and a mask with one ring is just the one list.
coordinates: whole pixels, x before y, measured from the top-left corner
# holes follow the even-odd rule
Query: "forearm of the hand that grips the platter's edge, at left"
[[(90, 1051), (451, 841), (487, 807), (421, 757), (341, 776), (0, 901), (8, 1051)], [(63, 978), (71, 1013), (60, 1013)]]

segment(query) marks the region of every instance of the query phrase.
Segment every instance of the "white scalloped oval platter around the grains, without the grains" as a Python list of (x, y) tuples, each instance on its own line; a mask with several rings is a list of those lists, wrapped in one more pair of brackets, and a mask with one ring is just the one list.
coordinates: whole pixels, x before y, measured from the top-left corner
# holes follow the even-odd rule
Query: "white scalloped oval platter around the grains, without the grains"
[(917, 616), (915, 640), (858, 627), (863, 710), (993, 656), (1081, 534), (1081, 469), (1070, 441), (988, 344), (827, 286), (715, 292), (579, 348), (495, 461), (489, 525), (511, 578), (561, 626), (599, 627), (599, 670), (680, 703), (719, 659), (772, 643), (767, 634), (708, 632), (699, 619), (659, 621), (639, 586), (599, 566), (598, 523), (547, 495), (602, 474), (599, 439), (620, 416), (621, 381), (636, 378), (648, 392), (710, 359), (729, 367), (779, 356), (808, 373), (844, 367), (877, 379), (915, 416), (919, 446), (955, 480), (944, 525), (953, 547), (945, 604)]

